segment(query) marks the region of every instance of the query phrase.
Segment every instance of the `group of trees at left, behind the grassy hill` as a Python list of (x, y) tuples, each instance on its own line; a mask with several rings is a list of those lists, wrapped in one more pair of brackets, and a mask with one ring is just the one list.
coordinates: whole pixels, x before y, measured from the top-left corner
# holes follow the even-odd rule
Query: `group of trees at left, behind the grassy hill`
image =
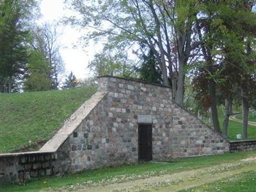
[[(40, 17), (39, 3), (37, 0), (0, 1), (1, 93), (60, 88), (64, 63), (58, 24), (35, 23)], [(76, 79), (72, 78), (68, 81)]]

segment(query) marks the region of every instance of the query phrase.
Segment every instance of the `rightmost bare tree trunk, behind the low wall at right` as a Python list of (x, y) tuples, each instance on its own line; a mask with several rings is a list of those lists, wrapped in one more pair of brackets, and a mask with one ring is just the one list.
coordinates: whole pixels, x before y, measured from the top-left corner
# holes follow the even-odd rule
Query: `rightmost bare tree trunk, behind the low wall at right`
[(245, 95), (245, 92), (244, 92), (243, 88), (241, 88), (241, 95), (242, 95), (242, 109), (243, 109), (243, 132), (242, 132), (242, 138), (243, 139), (247, 139), (249, 107), (248, 107), (248, 102), (247, 102), (246, 95)]

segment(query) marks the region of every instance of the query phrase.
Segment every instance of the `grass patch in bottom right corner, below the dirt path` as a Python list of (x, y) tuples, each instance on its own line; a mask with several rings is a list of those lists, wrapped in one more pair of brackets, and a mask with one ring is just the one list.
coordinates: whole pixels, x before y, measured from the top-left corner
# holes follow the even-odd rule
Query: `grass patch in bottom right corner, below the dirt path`
[(256, 171), (246, 172), (198, 188), (182, 191), (256, 191)]

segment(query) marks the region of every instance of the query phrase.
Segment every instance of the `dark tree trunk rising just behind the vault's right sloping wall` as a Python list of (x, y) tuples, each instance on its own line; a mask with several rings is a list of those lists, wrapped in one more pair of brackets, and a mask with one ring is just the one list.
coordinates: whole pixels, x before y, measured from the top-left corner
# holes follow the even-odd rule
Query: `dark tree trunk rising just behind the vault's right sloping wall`
[(209, 80), (209, 93), (211, 95), (212, 124), (215, 131), (221, 132), (220, 122), (218, 118), (217, 102), (216, 102), (216, 87), (213, 79)]

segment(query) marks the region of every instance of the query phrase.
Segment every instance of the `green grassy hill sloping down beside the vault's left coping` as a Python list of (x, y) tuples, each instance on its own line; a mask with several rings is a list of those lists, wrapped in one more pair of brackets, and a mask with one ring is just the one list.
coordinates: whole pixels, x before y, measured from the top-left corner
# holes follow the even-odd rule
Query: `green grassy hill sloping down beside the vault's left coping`
[(86, 87), (0, 94), (0, 153), (36, 149), (95, 92)]

